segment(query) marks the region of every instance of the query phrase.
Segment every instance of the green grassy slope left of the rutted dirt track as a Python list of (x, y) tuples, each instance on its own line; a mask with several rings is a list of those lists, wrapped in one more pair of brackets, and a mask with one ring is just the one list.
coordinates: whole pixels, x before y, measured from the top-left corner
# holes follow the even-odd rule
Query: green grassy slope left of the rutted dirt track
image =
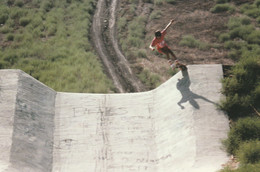
[(89, 42), (94, 0), (0, 2), (0, 68), (21, 69), (57, 91), (109, 92)]

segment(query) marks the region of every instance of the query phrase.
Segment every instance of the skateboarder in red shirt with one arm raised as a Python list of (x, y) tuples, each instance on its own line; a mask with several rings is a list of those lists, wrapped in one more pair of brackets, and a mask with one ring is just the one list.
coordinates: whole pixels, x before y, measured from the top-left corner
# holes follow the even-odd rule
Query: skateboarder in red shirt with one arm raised
[(171, 26), (173, 22), (174, 20), (171, 20), (170, 23), (162, 31), (157, 30), (155, 32), (155, 37), (153, 38), (153, 41), (150, 44), (149, 48), (154, 51), (155, 48), (153, 47), (156, 47), (157, 51), (159, 53), (165, 54), (168, 60), (171, 60), (170, 59), (170, 55), (171, 55), (173, 57), (173, 60), (175, 61), (177, 60), (176, 55), (172, 52), (172, 50), (168, 47), (168, 45), (164, 40), (164, 36), (166, 35), (166, 30)]

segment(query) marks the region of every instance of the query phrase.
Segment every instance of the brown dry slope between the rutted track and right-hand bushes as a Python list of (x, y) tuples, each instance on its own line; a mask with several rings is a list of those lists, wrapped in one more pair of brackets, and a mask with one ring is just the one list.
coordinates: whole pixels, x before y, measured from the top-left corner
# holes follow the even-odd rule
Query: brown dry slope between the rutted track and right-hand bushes
[[(139, 69), (137, 73), (141, 72), (140, 70), (149, 70), (154, 74), (158, 74), (163, 80), (169, 78), (171, 72), (169, 72), (169, 66), (165, 56), (151, 52), (148, 46), (153, 39), (154, 31), (163, 29), (170, 19), (173, 18), (175, 18), (175, 22), (168, 29), (166, 41), (180, 61), (186, 64), (234, 64), (234, 60), (227, 57), (228, 50), (224, 48), (224, 45), (218, 40), (218, 35), (227, 31), (226, 23), (231, 14), (229, 12), (210, 12), (210, 9), (216, 5), (214, 1), (188, 0), (175, 1), (174, 4), (162, 2), (159, 5), (142, 3), (142, 1), (133, 2), (137, 3), (131, 4), (127, 3), (127, 1), (120, 1), (121, 8), (118, 18), (120, 18), (119, 21), (122, 20), (122, 18), (125, 18), (126, 21), (129, 20), (125, 28), (119, 31), (121, 40), (131, 39), (129, 36), (129, 25), (131, 25), (132, 20), (140, 17), (143, 17), (145, 20), (145, 28), (143, 30), (144, 41), (140, 47), (135, 48), (133, 46), (133, 48), (128, 46), (124, 49), (125, 44), (131, 44), (131, 40), (128, 43), (125, 43), (123, 40), (121, 41), (123, 52), (125, 52), (125, 50), (127, 51), (125, 52), (126, 56), (133, 62), (134, 66), (137, 66), (136, 69)], [(136, 9), (135, 15), (132, 15), (131, 11), (129, 11), (131, 8)], [(141, 26), (137, 26), (138, 29), (139, 27)], [(191, 41), (199, 41), (201, 46), (180, 45), (180, 42), (185, 36), (192, 36), (194, 40)], [(132, 44), (134, 45), (135, 43)], [(133, 52), (131, 52), (131, 50)], [(144, 51), (146, 55), (140, 57), (140, 53), (139, 58), (138, 55), (136, 58), (134, 51)], [(141, 69), (140, 66), (142, 67)]]

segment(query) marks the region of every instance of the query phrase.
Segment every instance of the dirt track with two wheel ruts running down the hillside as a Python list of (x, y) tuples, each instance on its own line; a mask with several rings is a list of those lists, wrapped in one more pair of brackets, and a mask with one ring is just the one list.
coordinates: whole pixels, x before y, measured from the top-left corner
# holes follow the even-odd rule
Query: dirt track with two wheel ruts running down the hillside
[(117, 3), (117, 0), (97, 2), (92, 25), (92, 40), (117, 92), (144, 91), (144, 85), (132, 72), (130, 64), (118, 46), (115, 25)]

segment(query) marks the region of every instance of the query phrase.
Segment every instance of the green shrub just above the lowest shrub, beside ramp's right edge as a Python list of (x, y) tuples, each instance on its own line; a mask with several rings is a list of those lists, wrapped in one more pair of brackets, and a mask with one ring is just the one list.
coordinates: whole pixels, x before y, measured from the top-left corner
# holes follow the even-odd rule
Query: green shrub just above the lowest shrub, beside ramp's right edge
[(240, 144), (260, 138), (260, 119), (239, 119), (228, 133), (228, 139), (224, 141), (227, 151), (236, 154)]

